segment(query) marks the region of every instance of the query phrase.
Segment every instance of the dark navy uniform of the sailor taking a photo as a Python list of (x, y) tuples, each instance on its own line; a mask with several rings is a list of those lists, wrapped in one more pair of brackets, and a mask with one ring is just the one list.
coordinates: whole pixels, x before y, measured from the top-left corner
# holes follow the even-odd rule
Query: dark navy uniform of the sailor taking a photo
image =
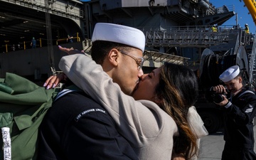
[(255, 160), (252, 120), (256, 114), (256, 96), (242, 87), (230, 102), (232, 105), (228, 108), (223, 107), (225, 146), (222, 160)]

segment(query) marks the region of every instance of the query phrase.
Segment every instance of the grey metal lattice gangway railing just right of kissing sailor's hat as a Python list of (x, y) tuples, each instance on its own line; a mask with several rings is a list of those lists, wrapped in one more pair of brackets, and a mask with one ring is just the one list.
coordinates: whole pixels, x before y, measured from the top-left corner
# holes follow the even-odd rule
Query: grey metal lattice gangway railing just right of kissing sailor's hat
[(235, 31), (232, 27), (219, 27), (217, 32), (211, 31), (209, 26), (139, 29), (142, 30), (146, 36), (146, 46), (156, 47), (209, 47), (223, 43), (227, 44), (228, 41), (230, 41), (230, 34), (238, 35), (238, 30)]

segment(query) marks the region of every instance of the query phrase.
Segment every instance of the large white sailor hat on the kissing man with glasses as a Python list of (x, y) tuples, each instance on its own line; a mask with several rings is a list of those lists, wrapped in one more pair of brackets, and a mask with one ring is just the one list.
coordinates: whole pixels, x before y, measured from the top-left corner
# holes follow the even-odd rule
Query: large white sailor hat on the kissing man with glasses
[(144, 33), (139, 29), (113, 23), (96, 23), (92, 42), (97, 40), (122, 43), (139, 48), (142, 52), (144, 52), (146, 41)]

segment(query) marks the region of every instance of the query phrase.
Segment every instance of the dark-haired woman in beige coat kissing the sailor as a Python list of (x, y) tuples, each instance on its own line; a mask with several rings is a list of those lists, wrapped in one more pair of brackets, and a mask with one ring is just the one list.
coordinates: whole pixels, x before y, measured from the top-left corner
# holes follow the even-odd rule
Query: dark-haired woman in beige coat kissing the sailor
[[(139, 159), (192, 159), (198, 153), (197, 139), (208, 134), (191, 107), (198, 96), (196, 75), (183, 65), (164, 63), (142, 75), (132, 97), (125, 95), (102, 67), (85, 55), (64, 56), (59, 68), (105, 107)], [(46, 83), (54, 81), (51, 78)], [(151, 157), (146, 154), (149, 151)]]

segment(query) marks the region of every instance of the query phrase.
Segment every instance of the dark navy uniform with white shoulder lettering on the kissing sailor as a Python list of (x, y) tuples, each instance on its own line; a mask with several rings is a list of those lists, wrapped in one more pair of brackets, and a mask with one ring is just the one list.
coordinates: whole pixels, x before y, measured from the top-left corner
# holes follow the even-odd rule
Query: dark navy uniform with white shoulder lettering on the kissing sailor
[(114, 120), (83, 92), (53, 103), (40, 130), (39, 159), (137, 159)]

